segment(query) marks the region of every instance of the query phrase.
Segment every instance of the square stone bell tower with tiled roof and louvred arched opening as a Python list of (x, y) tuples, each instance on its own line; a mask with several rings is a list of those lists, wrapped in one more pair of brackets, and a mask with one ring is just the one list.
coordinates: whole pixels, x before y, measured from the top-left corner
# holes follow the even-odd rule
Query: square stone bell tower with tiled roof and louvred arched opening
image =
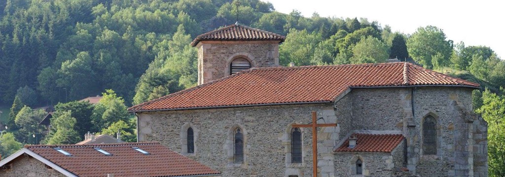
[(279, 66), (286, 37), (238, 23), (197, 36), (198, 85), (254, 67)]

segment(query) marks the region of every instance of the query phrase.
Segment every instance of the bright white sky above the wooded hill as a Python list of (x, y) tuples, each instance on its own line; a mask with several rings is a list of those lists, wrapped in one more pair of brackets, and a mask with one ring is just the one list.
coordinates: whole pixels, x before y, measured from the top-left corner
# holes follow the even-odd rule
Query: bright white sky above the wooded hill
[(447, 39), (465, 46), (491, 47), (505, 59), (505, 2), (450, 0), (268, 0), (277, 12), (293, 9), (305, 17), (317, 12), (321, 17), (367, 18), (391, 30), (412, 34), (418, 27), (433, 25), (443, 29)]

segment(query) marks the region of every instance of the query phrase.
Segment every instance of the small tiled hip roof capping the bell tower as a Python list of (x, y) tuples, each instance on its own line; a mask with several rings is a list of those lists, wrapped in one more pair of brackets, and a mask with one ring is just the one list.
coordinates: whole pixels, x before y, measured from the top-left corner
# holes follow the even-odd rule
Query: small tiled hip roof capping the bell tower
[(197, 36), (191, 46), (196, 46), (200, 41), (279, 41), (283, 42), (285, 36), (272, 32), (259, 30), (243, 25), (230, 25)]

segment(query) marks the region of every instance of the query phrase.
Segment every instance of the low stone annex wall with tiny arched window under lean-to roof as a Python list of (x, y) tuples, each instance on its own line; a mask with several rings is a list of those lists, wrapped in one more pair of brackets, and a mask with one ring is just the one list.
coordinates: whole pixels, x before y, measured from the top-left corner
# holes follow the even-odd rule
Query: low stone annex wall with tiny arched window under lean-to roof
[[(356, 160), (363, 161), (363, 174), (356, 175)], [(335, 176), (391, 176), (394, 163), (391, 153), (335, 153)]]

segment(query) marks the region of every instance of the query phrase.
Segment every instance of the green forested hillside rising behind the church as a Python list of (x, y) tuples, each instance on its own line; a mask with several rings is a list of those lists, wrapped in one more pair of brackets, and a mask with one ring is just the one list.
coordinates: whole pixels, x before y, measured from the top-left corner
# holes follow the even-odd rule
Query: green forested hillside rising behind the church
[[(13, 108), (4, 111), (0, 121), (12, 127), (41, 120), (42, 113), (30, 107), (61, 102), (55, 132), (73, 127), (76, 132), (64, 134), (78, 136), (88, 130), (107, 132), (112, 126), (109, 132), (127, 127), (125, 133), (133, 136), (126, 106), (194, 86), (197, 54), (189, 43), (198, 34), (235, 21), (285, 35), (279, 51), (282, 65), (398, 58), (481, 83), (490, 91), (475, 92), (475, 109), (488, 116), (486, 120), (505, 113), (500, 90), (505, 85), (505, 62), (489, 47), (446, 39), (434, 26), (402, 34), (367, 19), (282, 14), (259, 0), (7, 0), (0, 2), (0, 20), (0, 108)], [(102, 93), (110, 98), (98, 108), (72, 102)], [(488, 102), (499, 104), (481, 108)], [(485, 114), (502, 109), (494, 117)], [(113, 113), (120, 118), (108, 117)], [(17, 117), (27, 120), (17, 125)], [(489, 124), (490, 133), (503, 125), (499, 121)], [(35, 126), (19, 131), (38, 130)], [(33, 143), (23, 138), (26, 133), (16, 133), (17, 141)], [(80, 140), (54, 137), (60, 134), (49, 134), (42, 142)], [(6, 134), (3, 142), (16, 141), (13, 137)], [(505, 159), (494, 159), (505, 164)], [(493, 163), (490, 160), (490, 166)]]

